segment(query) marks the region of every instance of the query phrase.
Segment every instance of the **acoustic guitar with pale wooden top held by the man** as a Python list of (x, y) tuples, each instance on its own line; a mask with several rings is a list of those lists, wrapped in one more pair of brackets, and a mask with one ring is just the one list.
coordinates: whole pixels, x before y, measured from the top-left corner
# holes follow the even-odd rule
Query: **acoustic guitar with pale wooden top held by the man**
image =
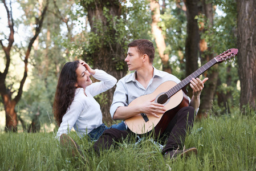
[(194, 71), (180, 83), (177, 84), (172, 81), (167, 81), (157, 87), (153, 93), (137, 97), (137, 99), (133, 100), (128, 106), (140, 105), (148, 99), (156, 98), (155, 103), (164, 104), (166, 112), (164, 114), (160, 114), (159, 118), (148, 115), (147, 113), (138, 113), (135, 116), (125, 119), (128, 128), (139, 135), (150, 133), (152, 131), (155, 136), (161, 135), (176, 113), (182, 107), (189, 105), (188, 97), (182, 89), (186, 88), (190, 83), (190, 80), (192, 80), (192, 78), (197, 78), (214, 64), (222, 63), (224, 61), (226, 62), (227, 59), (233, 58), (237, 53), (237, 48), (231, 48), (230, 50), (216, 56), (208, 63), (204, 64), (204, 66), (198, 68), (198, 70)]

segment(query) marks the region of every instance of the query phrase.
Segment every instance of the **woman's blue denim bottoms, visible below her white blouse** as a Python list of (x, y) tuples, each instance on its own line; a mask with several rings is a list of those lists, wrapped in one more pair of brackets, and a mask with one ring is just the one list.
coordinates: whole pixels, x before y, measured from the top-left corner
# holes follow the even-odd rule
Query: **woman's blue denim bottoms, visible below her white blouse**
[(101, 124), (99, 127), (92, 129), (92, 131), (88, 133), (87, 136), (90, 139), (90, 141), (96, 141), (97, 139), (99, 139), (99, 137), (103, 134), (103, 132), (106, 129), (112, 129), (112, 128), (119, 129), (122, 131), (127, 130), (125, 123), (121, 121), (121, 123), (114, 124), (109, 128), (105, 124)]

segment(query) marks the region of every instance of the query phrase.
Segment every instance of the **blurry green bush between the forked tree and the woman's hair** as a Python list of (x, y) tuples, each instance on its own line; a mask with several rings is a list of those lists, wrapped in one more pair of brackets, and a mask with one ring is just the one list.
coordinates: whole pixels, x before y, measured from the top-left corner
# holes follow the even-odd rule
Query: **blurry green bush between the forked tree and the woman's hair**
[(40, 124), (55, 124), (52, 104), (57, 84), (56, 78), (51, 76), (48, 76), (46, 80), (35, 78), (32, 83), (29, 91), (23, 92), (22, 98), (27, 100), (22, 100), (18, 104), (18, 115), (29, 122), (27, 124), (30, 124), (31, 120), (36, 117), (36, 125), (39, 127)]

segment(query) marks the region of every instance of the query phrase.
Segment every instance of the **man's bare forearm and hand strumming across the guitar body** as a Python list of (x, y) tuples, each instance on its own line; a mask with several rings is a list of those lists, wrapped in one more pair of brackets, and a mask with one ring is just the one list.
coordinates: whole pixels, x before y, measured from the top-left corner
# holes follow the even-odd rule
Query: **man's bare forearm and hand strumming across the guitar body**
[(116, 109), (113, 119), (128, 119), (129, 117), (132, 117), (140, 113), (147, 113), (149, 115), (159, 117), (157, 114), (164, 114), (166, 109), (164, 108), (164, 105), (155, 103), (154, 101), (155, 99), (151, 99), (151, 100), (145, 101), (140, 105), (125, 106), (125, 107), (121, 106)]

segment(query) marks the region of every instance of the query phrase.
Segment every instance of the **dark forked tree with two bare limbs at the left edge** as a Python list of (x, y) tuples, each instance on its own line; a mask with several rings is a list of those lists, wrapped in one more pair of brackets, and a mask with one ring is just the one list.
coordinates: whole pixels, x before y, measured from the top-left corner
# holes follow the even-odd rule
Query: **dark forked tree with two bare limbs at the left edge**
[(10, 6), (7, 5), (6, 1), (2, 1), (2, 3), (5, 5), (6, 13), (7, 13), (7, 21), (8, 21), (8, 27), (10, 30), (10, 35), (9, 38), (7, 39), (7, 46), (5, 46), (3, 40), (0, 40), (0, 44), (3, 48), (3, 51), (5, 52), (5, 57), (6, 57), (6, 65), (5, 65), (5, 70), (3, 72), (0, 72), (0, 93), (1, 97), (3, 99), (3, 104), (5, 107), (5, 112), (6, 112), (6, 131), (17, 131), (17, 125), (18, 125), (18, 116), (17, 112), (15, 111), (15, 106), (17, 105), (18, 101), (21, 99), (22, 92), (23, 92), (23, 86), (27, 78), (27, 65), (28, 65), (28, 59), (30, 56), (30, 52), (33, 46), (33, 43), (35, 42), (35, 39), (40, 33), (40, 30), (43, 25), (43, 20), (44, 20), (44, 15), (46, 14), (46, 10), (48, 7), (48, 1), (44, 3), (42, 15), (36, 17), (35, 16), (35, 32), (32, 38), (29, 41), (29, 44), (27, 46), (27, 50), (25, 51), (25, 55), (23, 56), (23, 62), (25, 64), (24, 67), (24, 73), (23, 73), (23, 78), (19, 82), (19, 88), (17, 95), (13, 97), (13, 93), (15, 90), (13, 90), (13, 84), (11, 85), (6, 85), (6, 79), (7, 79), (7, 74), (9, 74), (9, 66), (11, 62), (11, 48), (13, 47), (14, 43), (14, 20), (13, 20), (13, 10), (11, 8), (11, 2), (9, 3)]

